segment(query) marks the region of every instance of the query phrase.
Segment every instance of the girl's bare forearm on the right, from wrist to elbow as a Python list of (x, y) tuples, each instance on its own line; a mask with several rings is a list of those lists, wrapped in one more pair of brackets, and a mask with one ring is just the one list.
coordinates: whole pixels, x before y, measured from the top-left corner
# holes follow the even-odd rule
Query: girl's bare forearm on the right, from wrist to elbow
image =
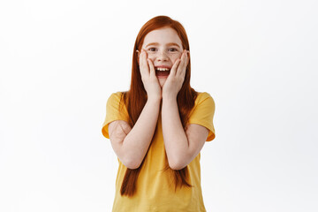
[(187, 157), (189, 143), (179, 117), (177, 98), (163, 98), (162, 123), (170, 167), (178, 169), (182, 160)]

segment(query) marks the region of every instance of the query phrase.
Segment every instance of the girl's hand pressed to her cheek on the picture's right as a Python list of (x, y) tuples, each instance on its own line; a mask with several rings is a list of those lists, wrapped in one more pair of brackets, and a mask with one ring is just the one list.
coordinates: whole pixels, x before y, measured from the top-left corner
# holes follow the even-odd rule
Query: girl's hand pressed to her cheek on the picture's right
[(163, 84), (163, 98), (177, 98), (186, 75), (186, 66), (189, 64), (188, 51), (185, 49), (182, 52), (181, 58), (178, 58), (172, 65), (170, 74)]

